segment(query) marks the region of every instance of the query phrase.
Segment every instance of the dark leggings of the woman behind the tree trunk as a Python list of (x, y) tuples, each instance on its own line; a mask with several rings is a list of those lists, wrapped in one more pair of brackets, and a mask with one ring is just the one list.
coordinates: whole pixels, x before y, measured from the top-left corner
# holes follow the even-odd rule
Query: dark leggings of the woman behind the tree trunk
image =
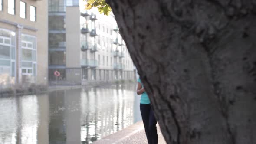
[(157, 121), (150, 104), (140, 104), (141, 117), (144, 124), (148, 144), (158, 143)]

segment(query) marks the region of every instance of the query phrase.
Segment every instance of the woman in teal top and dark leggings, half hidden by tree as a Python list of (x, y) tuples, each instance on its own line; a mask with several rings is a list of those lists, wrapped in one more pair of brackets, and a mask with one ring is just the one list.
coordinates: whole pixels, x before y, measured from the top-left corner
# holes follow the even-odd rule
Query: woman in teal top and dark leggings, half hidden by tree
[(154, 117), (148, 94), (145, 92), (145, 88), (141, 83), (141, 79), (138, 79), (137, 94), (141, 95), (140, 109), (141, 117), (144, 124), (148, 144), (158, 143), (158, 132), (156, 128), (157, 121)]

